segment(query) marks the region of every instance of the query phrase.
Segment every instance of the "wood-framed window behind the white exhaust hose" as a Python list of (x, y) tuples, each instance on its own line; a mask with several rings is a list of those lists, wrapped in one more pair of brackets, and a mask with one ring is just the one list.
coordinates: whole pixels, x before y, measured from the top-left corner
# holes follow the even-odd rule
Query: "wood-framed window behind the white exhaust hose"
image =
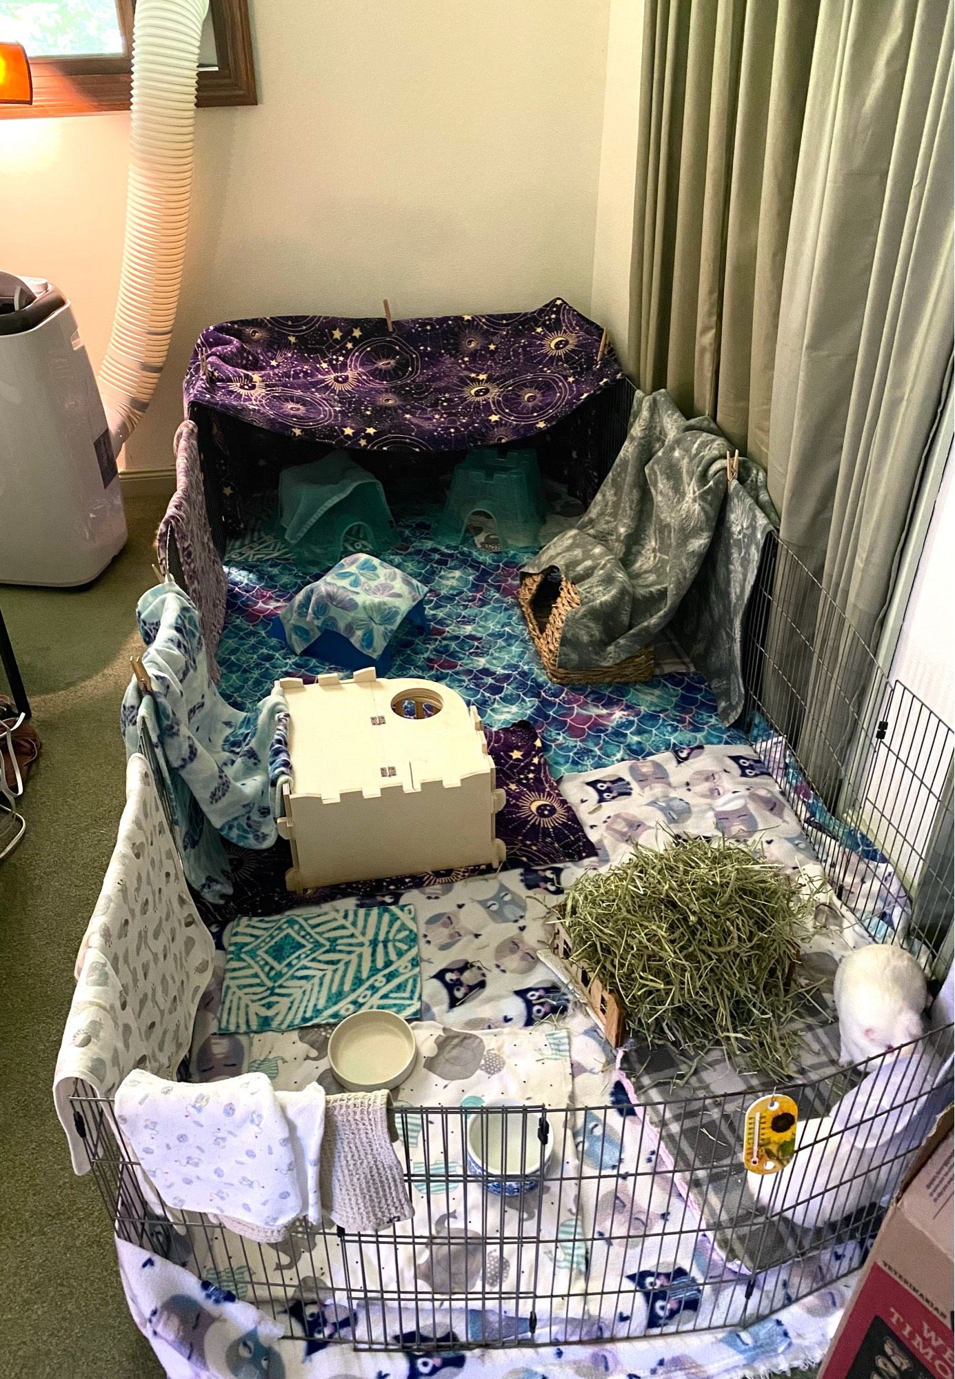
[[(92, 114), (130, 108), (135, 0), (0, 0), (0, 39), (22, 43), (33, 105), (0, 119)], [(248, 0), (210, 0), (199, 54), (203, 105), (255, 105)]]

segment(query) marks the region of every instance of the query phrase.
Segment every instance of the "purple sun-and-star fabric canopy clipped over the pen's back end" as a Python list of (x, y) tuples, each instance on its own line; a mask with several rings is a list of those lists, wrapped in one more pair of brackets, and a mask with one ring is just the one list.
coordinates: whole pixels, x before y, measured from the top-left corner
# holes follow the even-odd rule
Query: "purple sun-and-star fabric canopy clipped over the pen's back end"
[[(533, 312), (266, 316), (199, 336), (186, 407), (351, 450), (458, 451), (538, 434), (621, 378), (562, 298)], [(190, 412), (192, 415), (192, 412)]]

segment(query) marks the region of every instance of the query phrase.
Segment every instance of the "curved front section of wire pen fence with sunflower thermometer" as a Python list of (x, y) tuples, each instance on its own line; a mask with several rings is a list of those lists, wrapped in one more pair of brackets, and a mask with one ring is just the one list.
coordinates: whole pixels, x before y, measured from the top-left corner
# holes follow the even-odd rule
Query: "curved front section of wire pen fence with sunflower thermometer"
[[(414, 1218), (373, 1236), (301, 1220), (280, 1244), (262, 1245), (210, 1216), (150, 1205), (110, 1103), (77, 1089), (73, 1107), (116, 1233), (254, 1302), (288, 1338), (320, 1335), (371, 1350), (624, 1340), (660, 1327), (751, 1325), (858, 1267), (882, 1204), (948, 1099), (944, 1043), (944, 1031), (932, 1031), (907, 1047), (890, 1106), (872, 1074), (896, 1056), (874, 1060), (851, 1117), (825, 1125), (803, 1165), (796, 1153), (784, 1171), (798, 1175), (784, 1202), (791, 1252), (755, 1271), (738, 1258), (747, 1245), (759, 1255), (773, 1216), (754, 1215), (741, 1227), (729, 1200), (722, 1212), (701, 1216), (698, 1202), (711, 1197), (725, 1158), (697, 1143), (687, 1149), (689, 1167), (662, 1165), (658, 1131), (635, 1109), (396, 1106), (395, 1149)], [(853, 1084), (857, 1070), (840, 1069), (785, 1091), (813, 1124)], [(704, 1100), (707, 1113), (741, 1123), (752, 1094), (668, 1106), (676, 1138), (698, 1123)], [(516, 1127), (520, 1150), (502, 1175), (519, 1187), (512, 1197), (489, 1193), (450, 1157), (473, 1114), (500, 1120), (502, 1131)], [(553, 1153), (527, 1182), (523, 1150), (542, 1124)], [(620, 1142), (616, 1157), (569, 1153), (584, 1129), (591, 1143)], [(865, 1147), (871, 1142), (875, 1149)], [(734, 1160), (729, 1167), (744, 1172), (740, 1154)], [(776, 1186), (784, 1182), (780, 1175)], [(736, 1252), (720, 1244), (733, 1237)]]

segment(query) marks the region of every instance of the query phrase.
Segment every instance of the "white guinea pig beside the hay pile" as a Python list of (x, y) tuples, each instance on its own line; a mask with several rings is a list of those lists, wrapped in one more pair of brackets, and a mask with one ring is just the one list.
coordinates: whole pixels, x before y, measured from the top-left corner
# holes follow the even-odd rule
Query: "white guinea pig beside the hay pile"
[(868, 943), (843, 957), (834, 993), (842, 1063), (861, 1063), (925, 1033), (925, 972), (894, 943)]

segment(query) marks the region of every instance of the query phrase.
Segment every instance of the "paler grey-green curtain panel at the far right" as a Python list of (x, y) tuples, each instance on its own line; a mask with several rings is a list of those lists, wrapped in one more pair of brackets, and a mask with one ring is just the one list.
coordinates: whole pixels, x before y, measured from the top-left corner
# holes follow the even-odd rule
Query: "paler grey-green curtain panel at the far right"
[(954, 160), (951, 0), (823, 0), (769, 485), (782, 539), (867, 645), (951, 375)]

